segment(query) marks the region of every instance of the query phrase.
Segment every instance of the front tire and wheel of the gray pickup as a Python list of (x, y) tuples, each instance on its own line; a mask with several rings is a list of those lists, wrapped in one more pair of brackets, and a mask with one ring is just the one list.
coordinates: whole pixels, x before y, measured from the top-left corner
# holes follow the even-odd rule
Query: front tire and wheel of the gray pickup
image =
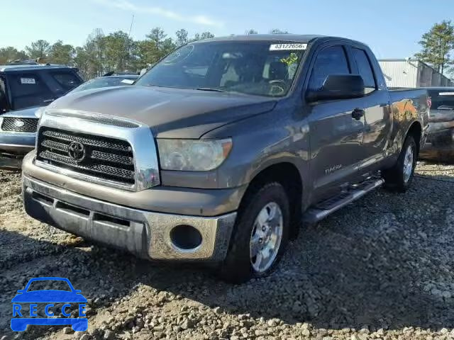
[[(272, 215), (272, 211), (275, 212), (274, 215)], [(279, 211), (282, 219), (279, 217)], [(260, 213), (262, 215), (259, 219)], [(270, 220), (265, 218), (270, 216), (273, 216)], [(260, 221), (263, 220), (268, 222), (260, 224)], [(272, 273), (288, 243), (289, 221), (289, 199), (281, 184), (277, 182), (266, 183), (261, 188), (247, 193), (238, 210), (229, 251), (218, 269), (218, 276), (229, 283), (244, 283), (251, 278), (260, 278)], [(267, 225), (269, 222), (272, 223)], [(258, 228), (258, 225), (262, 225), (262, 227)], [(282, 227), (273, 228), (273, 225), (282, 225)], [(280, 233), (282, 237), (280, 237), (280, 242), (277, 242), (279, 229), (282, 231)], [(270, 236), (272, 231), (275, 232)], [(262, 239), (261, 243), (260, 239)], [(269, 248), (258, 250), (258, 254), (270, 254), (270, 256), (260, 258), (251, 256), (251, 242), (255, 242), (253, 248), (256, 250), (263, 246), (273, 248), (272, 250)], [(277, 245), (277, 243), (279, 244)], [(262, 268), (257, 270), (256, 267), (258, 267), (260, 259), (264, 259), (264, 264)], [(265, 261), (270, 263), (265, 265)]]

